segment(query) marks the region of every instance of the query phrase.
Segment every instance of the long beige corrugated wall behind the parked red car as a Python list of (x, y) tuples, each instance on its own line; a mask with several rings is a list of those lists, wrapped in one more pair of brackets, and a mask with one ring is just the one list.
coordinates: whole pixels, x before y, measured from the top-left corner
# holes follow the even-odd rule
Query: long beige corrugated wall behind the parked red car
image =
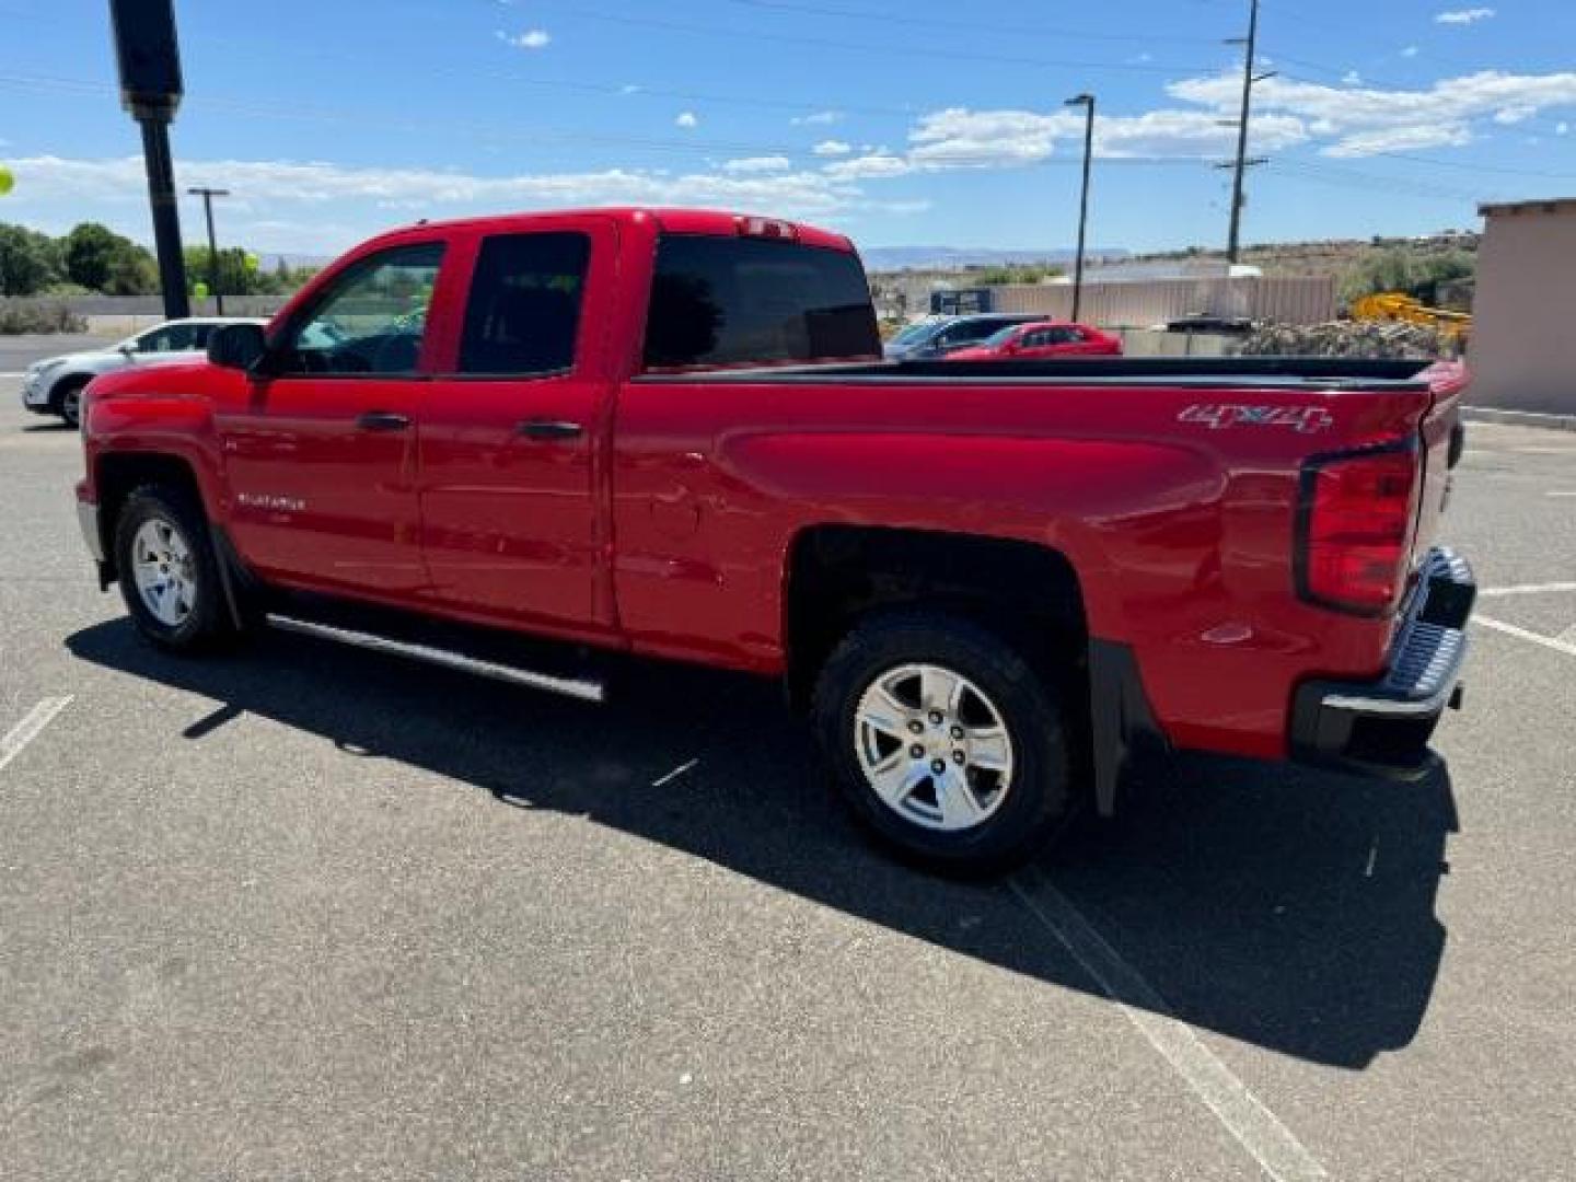
[[(1080, 317), (1098, 328), (1147, 328), (1187, 315), (1247, 317), (1281, 325), (1319, 325), (1335, 318), (1335, 279), (1146, 279), (1132, 284), (1084, 282)], [(1070, 284), (998, 288), (998, 312), (1040, 312), (1065, 320), (1073, 310)]]

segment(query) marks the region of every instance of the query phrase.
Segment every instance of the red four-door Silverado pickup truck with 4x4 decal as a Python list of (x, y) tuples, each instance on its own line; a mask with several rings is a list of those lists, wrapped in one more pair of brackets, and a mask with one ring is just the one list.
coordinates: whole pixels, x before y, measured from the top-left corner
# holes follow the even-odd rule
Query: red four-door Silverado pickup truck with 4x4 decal
[(96, 380), (80, 520), (170, 649), (274, 626), (588, 700), (600, 649), (782, 678), (854, 813), (952, 870), (1176, 749), (1431, 758), (1474, 599), (1434, 547), (1459, 366), (879, 355), (834, 233), (411, 225), (206, 362)]

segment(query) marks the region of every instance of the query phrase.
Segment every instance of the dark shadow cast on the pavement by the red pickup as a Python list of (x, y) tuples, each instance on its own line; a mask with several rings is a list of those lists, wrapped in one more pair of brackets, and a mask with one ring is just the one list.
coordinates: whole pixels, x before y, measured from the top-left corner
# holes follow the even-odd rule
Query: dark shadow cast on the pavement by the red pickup
[[(396, 760), (514, 807), (580, 815), (1105, 996), (1009, 883), (936, 879), (865, 845), (775, 684), (641, 663), (596, 708), (298, 637), (189, 660), (150, 649), (117, 619), (66, 643), (82, 660), (222, 703), (172, 733), (172, 745), (216, 741), (254, 714), (347, 758)], [(251, 766), (238, 764), (238, 786)], [(1087, 826), (1037, 872), (1179, 1018), (1360, 1069), (1406, 1046), (1426, 1012), (1445, 941), (1434, 897), (1455, 829), (1442, 768), (1393, 785), (1188, 758), (1174, 786)]]

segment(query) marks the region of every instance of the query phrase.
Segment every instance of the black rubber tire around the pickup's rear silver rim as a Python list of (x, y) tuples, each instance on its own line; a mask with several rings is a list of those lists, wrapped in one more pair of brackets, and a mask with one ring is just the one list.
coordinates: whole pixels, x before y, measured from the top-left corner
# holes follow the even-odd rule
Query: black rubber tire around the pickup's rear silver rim
[[(900, 815), (876, 794), (860, 766), (856, 717), (865, 690), (894, 670), (927, 663), (960, 673), (983, 690), (1012, 739), (1012, 772), (1001, 804), (961, 831), (927, 827)], [(854, 816), (886, 846), (927, 868), (965, 876), (1001, 873), (1050, 845), (1075, 815), (1078, 794), (1061, 690), (1007, 641), (963, 616), (901, 610), (856, 626), (821, 670), (812, 719)]]

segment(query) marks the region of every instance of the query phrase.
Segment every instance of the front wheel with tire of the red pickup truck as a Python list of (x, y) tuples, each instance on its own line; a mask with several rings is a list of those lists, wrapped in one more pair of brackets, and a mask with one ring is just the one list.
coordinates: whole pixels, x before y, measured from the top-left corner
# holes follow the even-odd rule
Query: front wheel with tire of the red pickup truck
[(235, 634), (208, 520), (186, 490), (150, 484), (126, 498), (115, 569), (132, 623), (154, 645), (194, 651)]

